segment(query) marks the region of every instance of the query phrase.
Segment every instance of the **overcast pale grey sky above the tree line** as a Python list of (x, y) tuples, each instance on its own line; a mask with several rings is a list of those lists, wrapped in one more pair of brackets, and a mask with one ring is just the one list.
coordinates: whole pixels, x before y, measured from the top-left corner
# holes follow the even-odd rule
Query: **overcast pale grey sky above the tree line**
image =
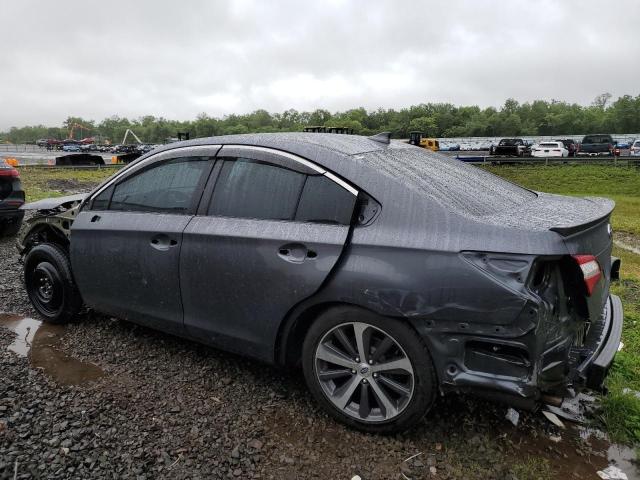
[(640, 1), (1, 0), (0, 130), (640, 94)]

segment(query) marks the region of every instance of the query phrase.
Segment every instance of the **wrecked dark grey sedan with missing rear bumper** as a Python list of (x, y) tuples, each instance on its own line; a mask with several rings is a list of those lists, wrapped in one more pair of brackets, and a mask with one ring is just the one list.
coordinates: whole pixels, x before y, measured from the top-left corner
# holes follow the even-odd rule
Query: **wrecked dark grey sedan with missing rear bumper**
[(86, 305), (301, 367), (330, 415), (389, 433), (437, 395), (535, 409), (602, 387), (623, 317), (613, 207), (388, 134), (236, 135), (27, 205), (18, 248), (47, 321)]

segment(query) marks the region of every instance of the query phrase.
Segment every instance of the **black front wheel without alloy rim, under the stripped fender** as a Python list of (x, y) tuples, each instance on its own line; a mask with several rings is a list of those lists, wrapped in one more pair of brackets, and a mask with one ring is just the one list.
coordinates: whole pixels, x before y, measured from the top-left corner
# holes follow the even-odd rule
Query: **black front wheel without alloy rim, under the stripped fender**
[(24, 282), (31, 304), (46, 322), (70, 322), (82, 308), (69, 256), (58, 245), (42, 243), (29, 251)]

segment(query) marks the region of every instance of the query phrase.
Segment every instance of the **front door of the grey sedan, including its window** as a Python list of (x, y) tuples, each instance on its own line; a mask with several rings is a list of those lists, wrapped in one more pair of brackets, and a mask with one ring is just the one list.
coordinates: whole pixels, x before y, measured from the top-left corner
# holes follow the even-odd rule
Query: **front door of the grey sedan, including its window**
[(71, 227), (71, 263), (85, 303), (182, 333), (182, 232), (195, 213), (217, 148), (150, 157), (99, 190)]

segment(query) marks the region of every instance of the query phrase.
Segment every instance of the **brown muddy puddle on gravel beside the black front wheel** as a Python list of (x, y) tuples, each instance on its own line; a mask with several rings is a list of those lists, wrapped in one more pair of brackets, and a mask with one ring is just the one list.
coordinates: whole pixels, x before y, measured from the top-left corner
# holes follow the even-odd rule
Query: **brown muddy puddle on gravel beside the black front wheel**
[(16, 334), (8, 350), (28, 357), (33, 368), (42, 370), (60, 385), (81, 385), (104, 375), (100, 367), (70, 357), (60, 350), (65, 331), (62, 325), (50, 325), (20, 315), (0, 314), (0, 328)]

